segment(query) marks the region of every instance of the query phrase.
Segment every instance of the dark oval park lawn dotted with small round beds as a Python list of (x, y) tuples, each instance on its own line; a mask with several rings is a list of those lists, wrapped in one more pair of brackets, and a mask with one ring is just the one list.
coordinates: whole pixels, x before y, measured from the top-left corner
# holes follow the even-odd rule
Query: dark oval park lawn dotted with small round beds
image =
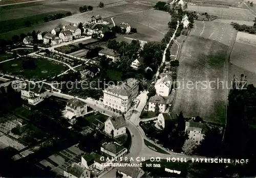
[(36, 59), (34, 69), (23, 69), (24, 58), (4, 62), (0, 66), (0, 70), (4, 73), (12, 75), (23, 75), (26, 78), (47, 78), (54, 77), (56, 74), (67, 70), (67, 66), (58, 64), (47, 59)]

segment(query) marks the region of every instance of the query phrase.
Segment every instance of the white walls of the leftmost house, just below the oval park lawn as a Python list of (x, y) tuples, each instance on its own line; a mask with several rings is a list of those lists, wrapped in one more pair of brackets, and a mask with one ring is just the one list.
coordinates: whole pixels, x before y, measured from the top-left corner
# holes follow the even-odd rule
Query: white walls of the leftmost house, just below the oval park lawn
[(28, 104), (30, 105), (37, 105), (42, 100), (44, 100), (46, 96), (47, 96), (47, 91), (37, 93), (33, 91), (27, 91), (24, 89), (22, 89), (22, 95), (21, 95), (23, 99), (28, 100)]

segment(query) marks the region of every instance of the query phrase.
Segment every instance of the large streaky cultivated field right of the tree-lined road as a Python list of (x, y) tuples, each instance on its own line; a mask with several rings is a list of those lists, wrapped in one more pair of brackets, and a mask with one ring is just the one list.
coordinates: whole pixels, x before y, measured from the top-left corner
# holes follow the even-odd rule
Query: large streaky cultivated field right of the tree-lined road
[(183, 44), (174, 113), (225, 123), (224, 64), (236, 31), (228, 24), (196, 21)]

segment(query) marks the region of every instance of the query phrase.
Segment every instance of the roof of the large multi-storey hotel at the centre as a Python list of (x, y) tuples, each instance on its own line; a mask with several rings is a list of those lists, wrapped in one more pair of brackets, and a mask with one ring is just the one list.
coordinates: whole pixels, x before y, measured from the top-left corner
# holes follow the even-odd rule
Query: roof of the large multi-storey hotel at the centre
[(138, 86), (139, 81), (133, 78), (125, 80), (121, 85), (111, 85), (106, 88), (106, 91), (113, 92), (122, 96), (130, 96), (132, 89)]

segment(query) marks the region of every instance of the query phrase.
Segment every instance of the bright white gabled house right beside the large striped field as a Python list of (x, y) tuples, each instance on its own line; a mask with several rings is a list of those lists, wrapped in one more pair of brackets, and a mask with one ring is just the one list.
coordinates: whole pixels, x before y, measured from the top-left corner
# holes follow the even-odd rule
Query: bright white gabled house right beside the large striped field
[(155, 84), (156, 93), (161, 96), (167, 97), (170, 94), (170, 91), (172, 90), (172, 85), (172, 75), (166, 73), (162, 78), (157, 80)]

